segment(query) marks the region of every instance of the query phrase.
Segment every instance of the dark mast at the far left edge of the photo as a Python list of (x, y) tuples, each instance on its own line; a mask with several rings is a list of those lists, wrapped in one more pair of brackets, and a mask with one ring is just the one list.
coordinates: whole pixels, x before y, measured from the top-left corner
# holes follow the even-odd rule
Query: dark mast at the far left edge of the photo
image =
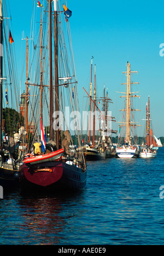
[[(0, 0), (0, 44), (1, 53), (3, 53), (3, 17), (2, 17), (2, 0)], [(0, 55), (0, 146), (2, 146), (2, 109), (3, 109), (3, 91), (2, 91), (2, 78), (3, 78), (3, 54)]]

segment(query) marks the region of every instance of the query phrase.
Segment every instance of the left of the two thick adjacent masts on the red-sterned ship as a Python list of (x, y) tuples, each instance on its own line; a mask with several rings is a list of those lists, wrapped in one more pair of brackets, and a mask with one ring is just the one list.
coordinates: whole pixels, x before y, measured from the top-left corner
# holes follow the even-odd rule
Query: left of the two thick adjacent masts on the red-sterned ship
[(54, 140), (54, 132), (52, 128), (53, 115), (53, 90), (52, 90), (52, 20), (51, 20), (51, 0), (49, 0), (49, 67), (50, 67), (50, 139)]

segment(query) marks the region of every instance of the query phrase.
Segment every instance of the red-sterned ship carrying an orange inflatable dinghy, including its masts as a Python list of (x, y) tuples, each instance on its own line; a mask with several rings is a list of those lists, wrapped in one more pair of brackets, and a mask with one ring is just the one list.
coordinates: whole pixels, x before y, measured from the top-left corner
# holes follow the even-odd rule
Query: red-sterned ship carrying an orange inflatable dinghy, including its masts
[[(60, 129), (61, 126), (61, 120), (58, 121), (58, 123), (55, 124), (55, 117), (54, 117), (54, 110), (55, 112), (61, 111), (63, 113), (63, 122), (66, 123), (66, 118), (65, 118), (65, 111), (64, 111), (64, 107), (63, 104), (65, 103), (65, 98), (61, 98), (61, 79), (63, 80), (63, 86), (66, 88), (68, 86), (72, 86), (70, 84), (75, 84), (73, 85), (74, 87), (72, 89), (74, 89), (73, 95), (70, 94), (71, 91), (67, 90), (67, 92), (65, 92), (65, 94), (67, 94), (68, 96), (68, 103), (70, 102), (71, 98), (74, 98), (74, 102), (71, 100), (72, 104), (70, 105), (70, 107), (72, 107), (72, 110), (77, 110), (77, 101), (78, 99), (77, 97), (77, 80), (76, 80), (76, 76), (75, 73), (73, 72), (73, 75), (71, 76), (70, 71), (74, 71), (74, 65), (73, 65), (73, 69), (69, 67), (69, 57), (66, 54), (66, 60), (63, 59), (62, 57), (62, 63), (64, 63), (64, 68), (61, 68), (60, 70), (60, 66), (58, 65), (58, 53), (62, 50), (62, 49), (58, 49), (58, 46), (62, 46), (63, 43), (66, 46), (66, 42), (60, 42), (60, 44), (58, 44), (58, 38), (57, 37), (57, 32), (60, 31), (60, 37), (62, 34), (62, 31), (60, 30), (60, 28), (58, 28), (58, 26), (61, 26), (61, 20), (63, 22), (65, 22), (65, 19), (63, 19), (64, 17), (60, 17), (59, 15), (57, 15), (57, 5), (58, 8), (60, 10), (60, 4), (58, 1), (54, 0), (54, 18), (52, 19), (52, 1), (48, 1), (48, 6), (49, 6), (49, 58), (48, 58), (48, 62), (49, 62), (49, 143), (46, 144), (45, 141), (45, 132), (44, 132), (44, 128), (43, 128), (43, 86), (44, 86), (44, 82), (47, 80), (47, 78), (45, 77), (45, 81), (43, 81), (43, 56), (41, 54), (41, 75), (40, 75), (40, 81), (42, 81), (42, 85), (40, 86), (40, 118), (41, 118), (41, 123), (40, 123), (40, 128), (41, 128), (41, 136), (40, 136), (40, 141), (33, 143), (33, 145), (27, 146), (26, 150), (24, 152), (24, 154), (27, 153), (32, 153), (36, 156), (32, 156), (30, 158), (26, 158), (24, 159), (22, 162), (23, 164), (20, 166), (19, 168), (19, 180), (20, 180), (20, 187), (22, 190), (26, 190), (28, 191), (32, 191), (32, 190), (42, 190), (42, 191), (63, 191), (63, 190), (83, 190), (86, 187), (86, 162), (84, 159), (84, 155), (82, 150), (80, 152), (76, 152), (76, 150), (74, 150), (74, 152), (71, 152), (71, 149), (69, 148), (69, 146), (74, 146), (74, 142), (73, 139), (71, 138), (71, 132), (69, 131), (69, 127), (67, 127), (68, 129), (66, 129), (66, 131), (62, 131), (62, 129)], [(60, 21), (57, 21), (57, 19), (60, 19)], [(52, 65), (52, 21), (54, 22), (54, 65)], [(66, 23), (66, 22), (65, 22)], [(42, 52), (42, 15), (41, 15), (41, 21), (40, 21), (40, 32), (41, 32), (41, 39), (40, 39), (40, 49), (41, 49), (41, 53)], [(45, 32), (46, 33), (46, 32)], [(39, 35), (40, 37), (40, 35)], [(62, 39), (65, 39), (65, 37), (61, 37)], [(69, 38), (68, 38), (69, 39)], [(68, 42), (68, 45), (70, 46), (70, 41)], [(62, 46), (63, 48), (63, 46)], [(64, 54), (65, 55), (65, 54)], [(63, 55), (61, 55), (63, 56)], [(27, 45), (27, 60), (28, 60), (28, 45)], [(72, 60), (72, 54), (71, 54), (71, 60)], [(72, 62), (72, 61), (71, 61)], [(61, 64), (61, 62), (59, 62)], [(28, 64), (28, 63), (27, 63)], [(27, 65), (28, 66), (28, 65)], [(53, 67), (54, 66), (54, 67)], [(52, 72), (52, 67), (55, 69), (55, 72)], [(70, 70), (69, 70), (70, 69)], [(64, 71), (64, 72), (63, 72)], [(27, 69), (27, 73), (28, 73), (28, 69)], [(55, 73), (55, 77), (54, 79), (52, 79), (53, 77), (53, 73)], [(62, 78), (58, 78), (62, 75)], [(63, 77), (64, 75), (64, 77)], [(36, 79), (38, 79), (36, 77)], [(70, 83), (69, 80), (72, 80), (72, 82)], [(53, 83), (54, 81), (54, 83)], [(63, 90), (64, 92), (65, 90)], [(26, 142), (28, 142), (28, 79), (27, 79), (27, 83), (26, 83)], [(42, 93), (41, 93), (42, 92)], [(46, 93), (45, 93), (45, 97), (46, 97)], [(66, 101), (67, 102), (67, 101)], [(62, 103), (62, 104), (61, 104)], [(36, 104), (36, 103), (35, 103)], [(75, 104), (75, 106), (74, 106)], [(37, 105), (35, 105), (37, 106)], [(39, 110), (39, 109), (38, 109)], [(36, 113), (38, 115), (38, 111), (36, 109)], [(36, 117), (36, 120), (39, 119), (39, 116)], [(47, 121), (47, 117), (45, 117), (46, 121)], [(37, 127), (37, 122), (36, 122), (36, 131), (35, 131), (35, 135), (37, 134), (37, 129), (39, 127)], [(75, 131), (75, 135), (78, 138), (78, 142), (80, 142), (80, 134), (79, 131), (77, 131), (77, 129), (74, 130)], [(36, 137), (33, 138), (36, 139)], [(36, 139), (37, 141), (37, 139)], [(53, 147), (52, 144), (55, 146)], [(48, 145), (49, 144), (49, 145)], [(50, 147), (48, 147), (50, 146)], [(42, 150), (40, 150), (40, 147), (42, 148)], [(60, 148), (63, 149), (60, 149)], [(58, 150), (57, 150), (58, 149)], [(64, 150), (65, 149), (65, 150)], [(51, 152), (53, 151), (53, 152)], [(64, 153), (65, 151), (65, 153)], [(45, 152), (49, 152), (48, 154), (44, 154)], [(43, 154), (42, 154), (43, 153)], [(42, 154), (42, 155), (40, 155)]]

